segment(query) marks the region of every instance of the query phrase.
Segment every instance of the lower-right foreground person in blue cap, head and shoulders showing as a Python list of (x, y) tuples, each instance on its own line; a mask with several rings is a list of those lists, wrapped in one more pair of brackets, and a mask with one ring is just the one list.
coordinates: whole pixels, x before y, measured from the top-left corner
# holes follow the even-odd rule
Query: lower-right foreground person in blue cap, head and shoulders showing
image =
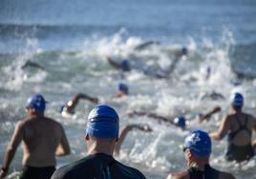
[(183, 144), (183, 152), (188, 169), (171, 172), (167, 179), (235, 179), (233, 175), (217, 169), (209, 164), (211, 139), (202, 130), (193, 130)]

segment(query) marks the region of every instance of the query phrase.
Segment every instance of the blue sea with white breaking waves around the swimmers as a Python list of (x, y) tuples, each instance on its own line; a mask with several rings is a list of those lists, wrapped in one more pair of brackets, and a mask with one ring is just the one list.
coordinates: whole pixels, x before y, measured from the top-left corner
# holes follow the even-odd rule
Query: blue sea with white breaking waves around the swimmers
[[(63, 124), (72, 147), (70, 156), (57, 159), (57, 167), (84, 157), (86, 118), (95, 104), (81, 101), (75, 115), (67, 118), (56, 110), (76, 92), (84, 92), (116, 108), (120, 126), (148, 124), (153, 129), (131, 131), (117, 160), (149, 179), (185, 169), (182, 142), (187, 131), (127, 113), (150, 111), (170, 120), (183, 115), (188, 129), (213, 131), (230, 109), (230, 94), (241, 91), (245, 111), (256, 116), (255, 17), (255, 0), (1, 0), (0, 161), (33, 93), (49, 101), (46, 115)], [(136, 49), (149, 41), (157, 43)], [(182, 47), (188, 54), (177, 62)], [(115, 70), (107, 56), (117, 62), (128, 59), (136, 68)], [(44, 70), (22, 69), (28, 60)], [(175, 62), (166, 78), (155, 77), (156, 71)], [(120, 82), (129, 86), (129, 96), (114, 97)], [(213, 91), (224, 99), (207, 97)], [(217, 105), (221, 113), (199, 124), (198, 114)], [(225, 139), (213, 142), (211, 165), (238, 179), (255, 179), (255, 158), (241, 166), (228, 163), (225, 148)], [(19, 148), (12, 176), (21, 169), (21, 159)]]

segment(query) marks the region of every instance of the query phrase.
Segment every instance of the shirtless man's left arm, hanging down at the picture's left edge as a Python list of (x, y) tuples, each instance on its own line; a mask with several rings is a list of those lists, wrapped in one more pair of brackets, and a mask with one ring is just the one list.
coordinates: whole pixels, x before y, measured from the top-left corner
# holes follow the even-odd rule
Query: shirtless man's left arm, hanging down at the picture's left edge
[(2, 169), (0, 170), (0, 178), (4, 178), (9, 170), (9, 167), (11, 165), (11, 161), (15, 155), (16, 149), (18, 148), (19, 144), (22, 141), (23, 138), (23, 125), (22, 122), (20, 121), (17, 123), (14, 132), (11, 136), (11, 142), (8, 145), (8, 148), (6, 149), (5, 155), (4, 155), (4, 160), (3, 160), (3, 165)]

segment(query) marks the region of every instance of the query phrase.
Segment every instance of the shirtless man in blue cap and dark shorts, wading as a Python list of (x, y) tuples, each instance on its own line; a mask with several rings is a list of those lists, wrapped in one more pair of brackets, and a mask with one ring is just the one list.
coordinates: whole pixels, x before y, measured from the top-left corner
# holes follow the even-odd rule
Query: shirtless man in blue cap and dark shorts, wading
[(23, 144), (21, 179), (50, 179), (55, 170), (55, 155), (70, 153), (70, 146), (62, 126), (44, 116), (46, 101), (40, 94), (28, 99), (28, 116), (19, 121), (6, 150), (0, 178), (4, 178), (19, 144)]

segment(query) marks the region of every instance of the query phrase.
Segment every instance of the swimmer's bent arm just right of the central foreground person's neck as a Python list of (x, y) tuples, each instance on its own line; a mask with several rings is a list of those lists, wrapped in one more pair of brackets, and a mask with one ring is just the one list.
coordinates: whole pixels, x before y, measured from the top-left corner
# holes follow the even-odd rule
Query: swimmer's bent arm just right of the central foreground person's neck
[(120, 150), (120, 147), (127, 135), (127, 133), (129, 131), (131, 131), (132, 129), (139, 129), (139, 130), (142, 130), (142, 131), (152, 131), (152, 129), (148, 126), (148, 125), (137, 125), (137, 124), (134, 124), (134, 125), (127, 125), (125, 126), (123, 129), (121, 129), (120, 131), (120, 134), (119, 134), (119, 139), (117, 141), (117, 144), (115, 146), (115, 153), (119, 153), (119, 150)]

